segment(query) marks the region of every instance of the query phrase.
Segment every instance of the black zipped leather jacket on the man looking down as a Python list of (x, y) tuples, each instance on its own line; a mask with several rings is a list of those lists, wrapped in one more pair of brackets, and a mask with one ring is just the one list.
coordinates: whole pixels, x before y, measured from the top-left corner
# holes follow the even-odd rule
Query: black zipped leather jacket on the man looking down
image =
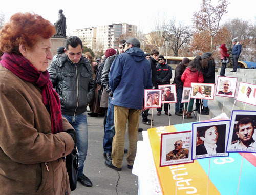
[(74, 64), (63, 54), (51, 62), (48, 71), (53, 87), (59, 95), (61, 112), (71, 116), (85, 112), (94, 93), (89, 61), (81, 56), (80, 61)]

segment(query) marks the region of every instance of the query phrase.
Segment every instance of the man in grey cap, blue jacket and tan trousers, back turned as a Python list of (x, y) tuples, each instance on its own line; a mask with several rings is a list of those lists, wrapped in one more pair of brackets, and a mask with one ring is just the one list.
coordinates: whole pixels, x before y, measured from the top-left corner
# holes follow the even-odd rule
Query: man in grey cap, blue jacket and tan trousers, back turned
[(138, 141), (140, 110), (143, 107), (144, 90), (152, 88), (151, 66), (139, 49), (140, 42), (129, 38), (124, 53), (116, 57), (109, 73), (109, 85), (113, 92), (115, 136), (112, 143), (112, 160), (105, 165), (122, 169), (124, 137), (128, 122), (129, 150), (126, 155), (129, 169), (133, 168)]

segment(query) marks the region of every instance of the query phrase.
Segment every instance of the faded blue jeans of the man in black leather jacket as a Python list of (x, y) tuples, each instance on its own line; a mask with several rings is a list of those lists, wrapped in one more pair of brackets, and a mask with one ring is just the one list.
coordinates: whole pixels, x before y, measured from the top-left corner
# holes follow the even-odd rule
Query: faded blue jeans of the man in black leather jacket
[(73, 126), (77, 135), (77, 149), (79, 152), (79, 167), (78, 167), (78, 177), (83, 175), (83, 163), (86, 160), (87, 148), (88, 148), (88, 127), (87, 127), (87, 116), (86, 112), (77, 115), (70, 116), (64, 115), (69, 123)]

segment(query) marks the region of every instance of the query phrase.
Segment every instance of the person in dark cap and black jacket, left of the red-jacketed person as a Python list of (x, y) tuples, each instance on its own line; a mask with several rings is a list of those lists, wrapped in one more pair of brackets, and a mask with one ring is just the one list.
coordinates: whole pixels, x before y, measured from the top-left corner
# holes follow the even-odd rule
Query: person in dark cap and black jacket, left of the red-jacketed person
[(174, 83), (176, 84), (176, 93), (177, 93), (177, 103), (175, 103), (175, 114), (182, 116), (183, 103), (181, 103), (182, 91), (183, 91), (183, 82), (181, 81), (181, 75), (185, 71), (187, 65), (189, 64), (189, 59), (184, 57), (182, 62), (178, 64), (175, 69), (174, 74)]

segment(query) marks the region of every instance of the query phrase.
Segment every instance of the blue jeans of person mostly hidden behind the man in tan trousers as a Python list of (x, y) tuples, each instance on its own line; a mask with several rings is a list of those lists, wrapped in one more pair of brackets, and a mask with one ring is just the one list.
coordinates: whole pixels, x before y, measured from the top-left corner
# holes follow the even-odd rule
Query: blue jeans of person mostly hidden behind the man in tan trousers
[(114, 125), (114, 105), (111, 104), (111, 97), (109, 97), (109, 107), (106, 114), (106, 125), (103, 137), (103, 149), (104, 153), (111, 153), (112, 151), (112, 140), (115, 135)]

